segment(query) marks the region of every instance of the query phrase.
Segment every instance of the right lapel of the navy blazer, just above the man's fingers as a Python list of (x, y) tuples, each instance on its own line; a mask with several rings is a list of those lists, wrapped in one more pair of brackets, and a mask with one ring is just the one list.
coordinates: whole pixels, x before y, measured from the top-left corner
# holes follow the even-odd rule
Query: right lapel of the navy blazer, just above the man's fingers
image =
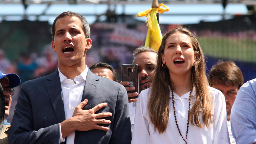
[(91, 103), (93, 102), (93, 99), (96, 95), (96, 91), (100, 86), (100, 84), (97, 82), (98, 80), (99, 78), (95, 74), (93, 74), (90, 71), (90, 69), (88, 69), (88, 73), (87, 73), (85, 85), (84, 85), (84, 91), (82, 95), (82, 101), (84, 101), (84, 99), (88, 100), (87, 105), (85, 105), (83, 108), (84, 110), (88, 110), (89, 107), (91, 106)]

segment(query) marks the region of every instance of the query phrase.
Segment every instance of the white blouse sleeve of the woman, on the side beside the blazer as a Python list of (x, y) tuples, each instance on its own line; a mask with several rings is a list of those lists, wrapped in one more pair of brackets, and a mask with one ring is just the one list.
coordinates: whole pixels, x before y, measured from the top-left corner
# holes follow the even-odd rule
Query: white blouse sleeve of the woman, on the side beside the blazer
[[(144, 98), (147, 98), (146, 90), (142, 91), (139, 95), (136, 103), (134, 127), (132, 133), (132, 144), (148, 144), (149, 135), (149, 124), (146, 117), (147, 114), (147, 102)], [(145, 96), (145, 97), (144, 97)]]

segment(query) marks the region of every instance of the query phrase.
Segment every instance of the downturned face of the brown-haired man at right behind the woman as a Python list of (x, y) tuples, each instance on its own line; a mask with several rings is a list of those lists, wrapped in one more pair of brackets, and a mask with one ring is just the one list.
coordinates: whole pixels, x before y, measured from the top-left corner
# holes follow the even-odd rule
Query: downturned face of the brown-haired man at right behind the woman
[(235, 86), (229, 86), (225, 84), (219, 84), (218, 81), (214, 81), (214, 85), (212, 85), (213, 88), (220, 90), (223, 95), (225, 96), (226, 100), (226, 109), (227, 109), (227, 120), (230, 120), (230, 112), (231, 108), (235, 102), (236, 95), (238, 93), (238, 85)]

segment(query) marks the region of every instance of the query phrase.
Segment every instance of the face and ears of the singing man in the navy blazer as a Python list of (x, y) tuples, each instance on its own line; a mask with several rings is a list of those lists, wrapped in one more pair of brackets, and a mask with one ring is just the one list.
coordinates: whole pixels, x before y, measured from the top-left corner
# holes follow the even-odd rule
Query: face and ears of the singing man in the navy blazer
[(82, 22), (78, 17), (62, 17), (55, 24), (52, 49), (57, 52), (59, 66), (85, 65), (86, 50), (92, 40), (85, 38)]

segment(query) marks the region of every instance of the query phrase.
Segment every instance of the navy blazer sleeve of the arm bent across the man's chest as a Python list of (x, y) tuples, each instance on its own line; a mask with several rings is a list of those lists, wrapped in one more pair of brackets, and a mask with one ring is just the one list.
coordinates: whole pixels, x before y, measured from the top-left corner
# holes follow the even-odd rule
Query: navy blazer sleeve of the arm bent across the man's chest
[(26, 82), (23, 83), (19, 92), (18, 103), (15, 106), (16, 110), (14, 111), (11, 127), (8, 130), (9, 144), (60, 143), (59, 123), (37, 131), (34, 130), (33, 111), (28, 90)]

